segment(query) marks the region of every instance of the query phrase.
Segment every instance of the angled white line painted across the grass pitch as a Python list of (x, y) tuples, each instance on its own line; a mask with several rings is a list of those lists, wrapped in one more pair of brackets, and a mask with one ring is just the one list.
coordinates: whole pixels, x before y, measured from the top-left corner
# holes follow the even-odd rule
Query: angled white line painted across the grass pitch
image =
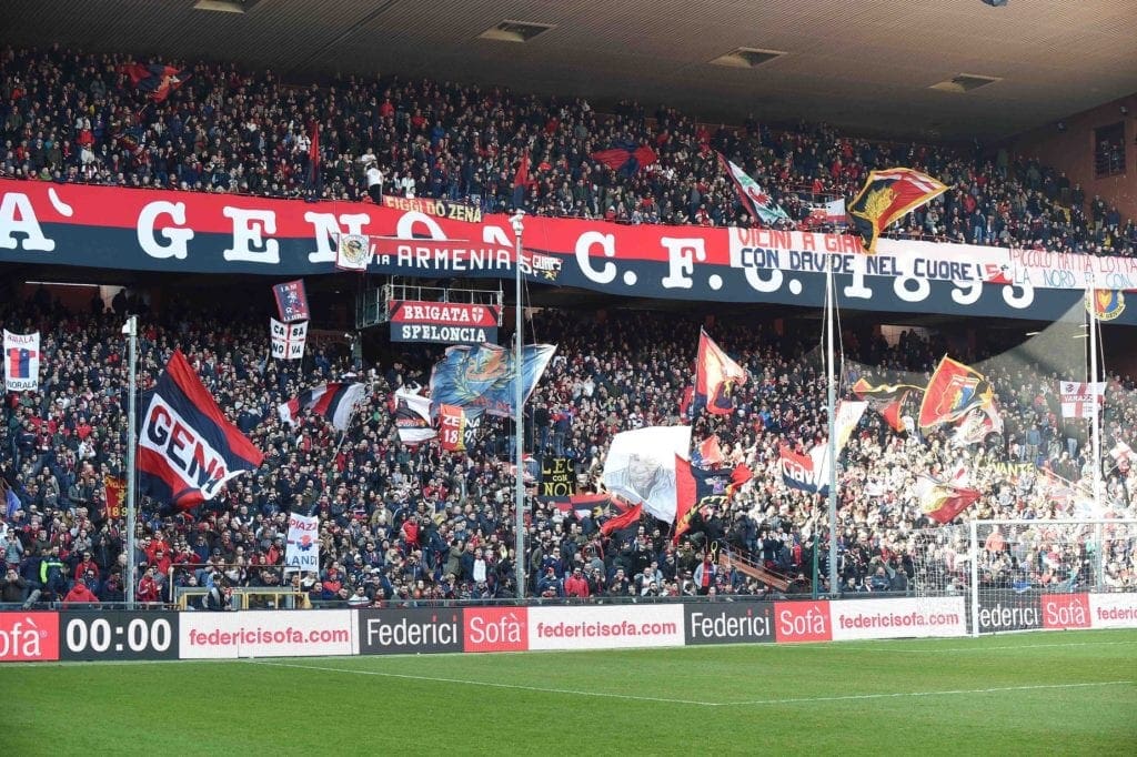
[(537, 691), (540, 693), (563, 693), (575, 697), (601, 697), (606, 699), (631, 699), (634, 701), (654, 701), (671, 705), (699, 705), (703, 707), (738, 707), (758, 705), (794, 705), (815, 701), (844, 701), (856, 699), (896, 699), (903, 697), (939, 697), (953, 694), (994, 693), (998, 691), (1031, 691), (1037, 689), (1081, 689), (1088, 687), (1114, 687), (1134, 683), (1132, 681), (1097, 681), (1090, 683), (1043, 683), (1028, 687), (998, 687), (994, 689), (952, 689), (947, 691), (898, 691), (891, 693), (844, 694), (840, 697), (795, 697), (787, 699), (755, 699), (750, 701), (702, 701), (697, 699), (667, 699), (664, 697), (640, 697), (636, 694), (605, 693), (601, 691), (579, 691), (575, 689), (551, 689), (546, 687), (526, 687), (517, 683), (500, 683), (497, 681), (467, 681), (465, 679), (443, 679), (430, 675), (410, 675), (407, 673), (385, 673), (382, 671), (352, 671), (342, 667), (322, 667), (317, 665), (296, 665), (292, 663), (269, 663), (266, 660), (247, 660), (252, 665), (269, 665), (272, 667), (294, 667), (301, 671), (321, 671), (324, 673), (349, 673), (356, 675), (377, 675), (389, 679), (410, 681), (430, 681), (437, 683), (459, 683), (463, 685), (491, 687), (495, 689), (515, 689), (520, 691)]

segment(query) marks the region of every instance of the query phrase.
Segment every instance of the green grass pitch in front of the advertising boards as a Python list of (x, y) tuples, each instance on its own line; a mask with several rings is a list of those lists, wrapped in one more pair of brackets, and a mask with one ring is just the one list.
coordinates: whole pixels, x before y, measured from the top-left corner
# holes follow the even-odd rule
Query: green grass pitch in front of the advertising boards
[(0, 755), (1137, 754), (1137, 631), (0, 667)]

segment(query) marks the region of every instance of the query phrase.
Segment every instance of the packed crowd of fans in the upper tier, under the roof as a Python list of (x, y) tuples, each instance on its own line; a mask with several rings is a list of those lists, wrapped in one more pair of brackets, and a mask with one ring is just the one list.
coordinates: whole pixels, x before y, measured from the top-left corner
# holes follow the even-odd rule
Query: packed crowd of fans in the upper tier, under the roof
[[(708, 126), (631, 101), (600, 114), (580, 98), (397, 76), (293, 85), (272, 72), (204, 63), (177, 66), (177, 85), (156, 102), (124, 73), (133, 63), (3, 50), (0, 176), (280, 198), (447, 198), (488, 211), (521, 206), (634, 224), (760, 224), (739, 203), (721, 152), (781, 203), (787, 226), (818, 227), (813, 203), (852, 198), (873, 168), (903, 165), (951, 189), (907, 216), (896, 236), (1137, 250), (1137, 224), (1106, 199), (1003, 148), (886, 143), (754, 117)], [(592, 157), (613, 149), (628, 161)], [(523, 156), (528, 170), (518, 170)]]

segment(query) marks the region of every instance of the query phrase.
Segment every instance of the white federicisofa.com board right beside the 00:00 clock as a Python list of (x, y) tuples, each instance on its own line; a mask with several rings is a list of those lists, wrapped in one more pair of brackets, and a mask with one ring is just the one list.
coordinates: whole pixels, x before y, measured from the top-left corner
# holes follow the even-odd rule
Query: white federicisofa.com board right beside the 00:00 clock
[(182, 613), (181, 659), (319, 657), (359, 651), (351, 610)]

